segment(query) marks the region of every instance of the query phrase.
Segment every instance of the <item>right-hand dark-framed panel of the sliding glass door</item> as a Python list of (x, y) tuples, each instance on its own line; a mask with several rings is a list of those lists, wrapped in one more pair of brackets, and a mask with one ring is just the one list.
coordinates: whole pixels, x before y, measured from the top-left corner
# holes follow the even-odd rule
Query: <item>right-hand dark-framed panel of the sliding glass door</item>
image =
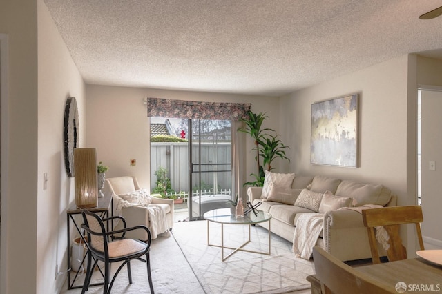
[(232, 199), (231, 122), (189, 119), (189, 219)]

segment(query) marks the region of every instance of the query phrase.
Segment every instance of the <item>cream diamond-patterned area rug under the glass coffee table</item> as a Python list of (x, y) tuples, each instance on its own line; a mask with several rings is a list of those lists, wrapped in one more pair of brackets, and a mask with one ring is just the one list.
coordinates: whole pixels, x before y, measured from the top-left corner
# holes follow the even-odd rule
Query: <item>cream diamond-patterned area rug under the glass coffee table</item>
[[(248, 226), (224, 225), (224, 245), (236, 247), (248, 238)], [(268, 251), (268, 231), (251, 227), (251, 243), (245, 249)], [(287, 293), (310, 288), (306, 280), (314, 274), (314, 264), (296, 258), (291, 242), (271, 235), (271, 255), (238, 251), (225, 262), (221, 248), (207, 246), (207, 222), (181, 222), (173, 228), (173, 237), (197, 279), (208, 294)], [(221, 243), (221, 225), (210, 223), (211, 244)], [(231, 250), (224, 250), (224, 257)]]

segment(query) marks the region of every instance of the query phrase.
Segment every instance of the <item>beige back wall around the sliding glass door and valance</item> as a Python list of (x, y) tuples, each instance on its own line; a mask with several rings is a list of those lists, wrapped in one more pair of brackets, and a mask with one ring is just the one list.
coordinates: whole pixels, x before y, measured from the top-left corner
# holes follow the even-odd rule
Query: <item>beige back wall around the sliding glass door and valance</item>
[[(135, 175), (143, 187), (150, 186), (150, 129), (144, 97), (251, 103), (253, 112), (268, 112), (265, 126), (278, 130), (278, 97), (96, 85), (86, 86), (86, 97), (86, 140), (88, 147), (97, 148), (97, 159), (109, 166), (106, 177)], [(252, 148), (248, 138), (247, 151)], [(137, 166), (130, 166), (130, 159), (136, 159)], [(254, 162), (254, 154), (249, 152), (247, 175), (256, 173)]]

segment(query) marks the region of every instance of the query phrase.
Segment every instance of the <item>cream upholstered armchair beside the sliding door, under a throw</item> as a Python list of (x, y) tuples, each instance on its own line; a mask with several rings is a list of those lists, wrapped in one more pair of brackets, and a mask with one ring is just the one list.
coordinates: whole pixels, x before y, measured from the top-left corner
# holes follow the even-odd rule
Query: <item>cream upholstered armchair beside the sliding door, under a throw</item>
[[(117, 209), (120, 202), (124, 201), (119, 195), (126, 195), (131, 192), (140, 190), (136, 177), (111, 177), (106, 179), (104, 183), (104, 193), (113, 193), (113, 215), (121, 215), (126, 219), (126, 226), (144, 225), (151, 228), (149, 222), (149, 211), (146, 206), (129, 206)], [(173, 227), (173, 199), (162, 199), (151, 197), (151, 204), (158, 204), (166, 213), (166, 222), (169, 230)], [(122, 227), (122, 223), (116, 225), (116, 229)], [(163, 232), (158, 232), (163, 233)], [(126, 237), (133, 239), (147, 239), (145, 231), (138, 230), (126, 233)]]

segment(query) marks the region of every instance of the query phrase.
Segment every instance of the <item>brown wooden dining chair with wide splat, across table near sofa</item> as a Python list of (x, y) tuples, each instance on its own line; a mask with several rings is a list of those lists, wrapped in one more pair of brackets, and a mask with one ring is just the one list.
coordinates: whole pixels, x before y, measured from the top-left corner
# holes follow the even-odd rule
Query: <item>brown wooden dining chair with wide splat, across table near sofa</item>
[(373, 208), (362, 210), (364, 226), (367, 227), (370, 249), (372, 251), (372, 262), (381, 263), (378, 251), (378, 242), (376, 242), (376, 227), (383, 227), (388, 233), (387, 257), (389, 262), (407, 259), (407, 248), (403, 246), (401, 236), (399, 235), (399, 226), (401, 224), (415, 224), (416, 234), (419, 240), (421, 250), (424, 250), (421, 233), (421, 222), (423, 214), (421, 206), (392, 206), (384, 208)]

